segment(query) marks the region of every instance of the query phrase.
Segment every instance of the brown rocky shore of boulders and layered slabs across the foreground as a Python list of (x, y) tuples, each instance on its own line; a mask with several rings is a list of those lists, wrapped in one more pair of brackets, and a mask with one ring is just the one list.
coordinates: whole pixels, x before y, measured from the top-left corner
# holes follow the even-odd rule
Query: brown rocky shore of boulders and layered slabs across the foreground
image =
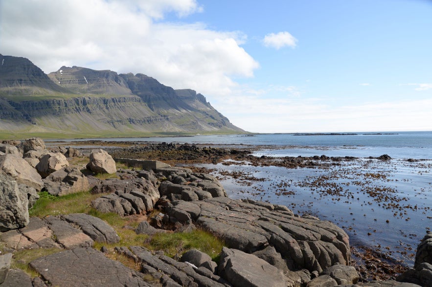
[[(351, 158), (270, 163), (247, 149), (187, 144), (81, 150), (46, 148), (40, 138), (4, 141), (0, 286), (432, 286), (431, 233), (417, 249), (414, 268), (391, 278), (388, 266), (388, 280), (365, 281), (361, 264), (352, 266), (348, 235), (336, 224), (284, 205), (229, 199), (205, 170), (174, 166), (223, 160), (307, 167)], [(74, 194), (82, 198), (71, 203)], [(64, 213), (59, 206), (30, 217), (41, 200), (55, 206), (59, 199), (88, 202), (85, 212)], [(108, 218), (129, 223), (109, 224)], [(144, 247), (156, 237), (197, 230), (223, 243), (215, 258), (187, 245), (173, 256)], [(24, 252), (31, 256), (19, 259)]]

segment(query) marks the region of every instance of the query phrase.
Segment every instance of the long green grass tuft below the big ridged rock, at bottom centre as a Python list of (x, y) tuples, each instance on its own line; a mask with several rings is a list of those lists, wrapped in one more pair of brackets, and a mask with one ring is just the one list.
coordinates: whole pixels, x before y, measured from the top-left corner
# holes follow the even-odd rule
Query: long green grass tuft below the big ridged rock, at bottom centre
[(162, 250), (169, 257), (182, 256), (190, 249), (198, 249), (213, 260), (218, 259), (223, 246), (225, 244), (220, 239), (200, 229), (190, 233), (158, 233), (145, 244), (148, 249)]

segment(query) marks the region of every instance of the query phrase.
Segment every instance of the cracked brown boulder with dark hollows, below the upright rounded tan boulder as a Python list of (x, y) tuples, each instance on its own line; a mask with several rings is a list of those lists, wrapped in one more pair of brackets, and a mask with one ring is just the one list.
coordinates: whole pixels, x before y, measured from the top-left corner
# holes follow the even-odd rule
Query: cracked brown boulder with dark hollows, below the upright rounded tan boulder
[(43, 179), (45, 190), (52, 195), (63, 196), (88, 191), (89, 180), (77, 167), (66, 167), (55, 171)]

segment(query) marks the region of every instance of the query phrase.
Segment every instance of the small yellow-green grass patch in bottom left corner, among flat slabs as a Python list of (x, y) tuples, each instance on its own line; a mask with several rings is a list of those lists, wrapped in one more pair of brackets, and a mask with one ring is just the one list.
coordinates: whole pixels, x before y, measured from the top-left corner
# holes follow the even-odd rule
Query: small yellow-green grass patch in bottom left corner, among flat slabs
[(39, 257), (54, 254), (60, 251), (62, 251), (62, 249), (59, 248), (35, 248), (15, 251), (14, 255), (12, 256), (11, 268), (22, 269), (24, 272), (30, 275), (30, 277), (37, 277), (39, 274), (28, 264)]

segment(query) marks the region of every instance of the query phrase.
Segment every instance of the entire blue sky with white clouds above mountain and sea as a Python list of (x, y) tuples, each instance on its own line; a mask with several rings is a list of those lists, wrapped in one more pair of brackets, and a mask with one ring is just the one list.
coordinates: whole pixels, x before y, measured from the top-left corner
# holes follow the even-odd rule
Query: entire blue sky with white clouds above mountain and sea
[(432, 131), (432, 0), (0, 0), (0, 53), (192, 88), (249, 132)]

